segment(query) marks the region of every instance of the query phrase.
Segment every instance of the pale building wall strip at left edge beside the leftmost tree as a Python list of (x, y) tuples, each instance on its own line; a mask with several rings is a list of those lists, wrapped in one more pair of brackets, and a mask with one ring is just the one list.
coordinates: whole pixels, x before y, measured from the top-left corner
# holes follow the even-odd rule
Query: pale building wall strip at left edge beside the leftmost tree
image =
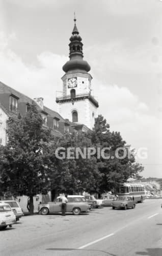
[(6, 145), (6, 142), (7, 142), (7, 134), (6, 134), (7, 120), (8, 120), (8, 116), (0, 108), (0, 142), (4, 146)]

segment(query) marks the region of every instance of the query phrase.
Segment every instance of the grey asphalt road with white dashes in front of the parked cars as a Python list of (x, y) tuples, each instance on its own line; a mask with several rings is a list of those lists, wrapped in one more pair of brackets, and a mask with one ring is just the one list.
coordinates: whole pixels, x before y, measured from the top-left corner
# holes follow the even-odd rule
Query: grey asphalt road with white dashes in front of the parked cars
[(105, 207), (89, 214), (35, 215), (0, 231), (1, 255), (162, 255), (160, 199), (135, 209)]

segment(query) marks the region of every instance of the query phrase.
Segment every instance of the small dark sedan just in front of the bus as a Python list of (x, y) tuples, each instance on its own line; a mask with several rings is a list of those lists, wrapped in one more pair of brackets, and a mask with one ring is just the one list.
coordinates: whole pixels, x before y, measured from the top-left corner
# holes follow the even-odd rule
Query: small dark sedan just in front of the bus
[(123, 208), (124, 210), (128, 208), (135, 208), (136, 202), (128, 196), (118, 197), (116, 200), (112, 202), (113, 209), (115, 208)]

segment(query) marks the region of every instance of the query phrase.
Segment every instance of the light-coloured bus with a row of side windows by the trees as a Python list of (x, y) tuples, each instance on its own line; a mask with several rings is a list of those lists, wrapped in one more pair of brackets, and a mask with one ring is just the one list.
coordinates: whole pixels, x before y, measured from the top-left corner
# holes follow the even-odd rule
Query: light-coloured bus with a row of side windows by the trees
[(115, 189), (115, 194), (118, 196), (131, 196), (134, 201), (142, 203), (145, 199), (145, 187), (140, 183), (125, 182), (119, 184)]

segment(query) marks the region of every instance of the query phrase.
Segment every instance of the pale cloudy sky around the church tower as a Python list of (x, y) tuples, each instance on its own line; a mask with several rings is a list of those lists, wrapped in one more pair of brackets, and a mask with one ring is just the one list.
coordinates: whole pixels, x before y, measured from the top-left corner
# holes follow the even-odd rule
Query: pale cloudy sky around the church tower
[(98, 113), (162, 178), (162, 0), (0, 0), (0, 80), (57, 110), (74, 12)]

